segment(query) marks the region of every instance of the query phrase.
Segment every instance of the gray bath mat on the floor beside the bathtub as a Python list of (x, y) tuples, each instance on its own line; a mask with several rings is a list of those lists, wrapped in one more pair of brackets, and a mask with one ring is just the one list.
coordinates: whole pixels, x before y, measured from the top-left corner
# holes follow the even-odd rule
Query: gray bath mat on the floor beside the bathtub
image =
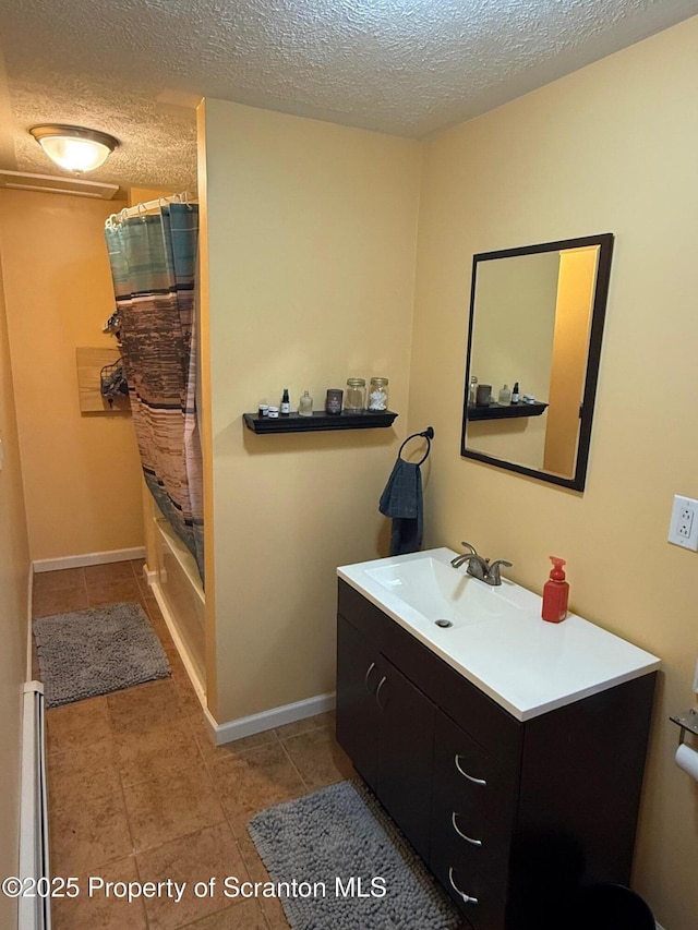
[(34, 620), (47, 708), (166, 678), (170, 666), (143, 607), (110, 604)]

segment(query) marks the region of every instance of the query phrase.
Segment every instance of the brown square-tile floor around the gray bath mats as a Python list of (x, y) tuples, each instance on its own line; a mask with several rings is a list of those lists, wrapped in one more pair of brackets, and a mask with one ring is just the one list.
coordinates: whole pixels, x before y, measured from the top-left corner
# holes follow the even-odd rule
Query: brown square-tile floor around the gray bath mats
[[(214, 746), (142, 566), (123, 561), (35, 576), (36, 617), (141, 603), (172, 668), (170, 679), (47, 712), (51, 872), (76, 877), (80, 886), (76, 897), (53, 901), (53, 928), (287, 928), (275, 898), (232, 902), (220, 880), (268, 880), (246, 833), (254, 812), (353, 775), (334, 739), (334, 715)], [(196, 897), (194, 883), (214, 877), (213, 895)], [(179, 903), (163, 894), (129, 904), (107, 896), (97, 881), (91, 896), (91, 878), (169, 879), (186, 882), (186, 891)]]

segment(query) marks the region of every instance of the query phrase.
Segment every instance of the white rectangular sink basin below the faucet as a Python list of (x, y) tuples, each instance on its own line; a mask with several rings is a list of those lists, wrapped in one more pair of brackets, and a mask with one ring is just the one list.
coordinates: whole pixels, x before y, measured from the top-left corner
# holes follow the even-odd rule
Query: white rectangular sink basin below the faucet
[(506, 590), (505, 580), (501, 588), (491, 587), (467, 575), (465, 566), (455, 569), (432, 555), (369, 568), (365, 573), (428, 620), (448, 620), (445, 629), (482, 624), (519, 609), (501, 593)]

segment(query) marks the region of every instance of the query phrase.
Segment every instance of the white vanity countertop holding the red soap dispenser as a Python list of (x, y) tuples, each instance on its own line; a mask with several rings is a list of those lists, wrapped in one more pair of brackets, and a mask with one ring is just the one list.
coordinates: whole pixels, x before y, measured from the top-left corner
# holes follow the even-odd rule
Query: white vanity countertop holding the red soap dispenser
[(423, 597), (417, 609), (399, 596), (399, 581), (389, 590), (375, 578), (375, 569), (394, 566), (404, 572), (408, 563), (425, 558), (465, 576), (466, 566), (449, 565), (455, 555), (449, 548), (429, 549), (341, 566), (337, 575), (519, 721), (659, 668), (655, 655), (575, 614), (559, 624), (545, 623), (541, 597), (507, 579), (500, 588), (490, 588), (469, 578), (468, 585), (476, 582), (483, 589), (478, 590), (478, 600), (491, 597), (497, 609), (442, 629), (434, 624), (443, 616), (438, 606), (435, 616), (429, 616)]

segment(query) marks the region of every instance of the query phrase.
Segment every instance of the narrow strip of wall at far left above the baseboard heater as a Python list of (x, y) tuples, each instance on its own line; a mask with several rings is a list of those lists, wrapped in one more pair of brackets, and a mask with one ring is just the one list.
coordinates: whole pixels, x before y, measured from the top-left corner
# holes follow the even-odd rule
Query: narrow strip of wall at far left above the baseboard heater
[[(20, 473), (12, 372), (0, 263), (0, 875), (16, 875), (22, 683), (26, 664), (29, 549)], [(16, 903), (0, 894), (0, 926), (16, 926)]]

